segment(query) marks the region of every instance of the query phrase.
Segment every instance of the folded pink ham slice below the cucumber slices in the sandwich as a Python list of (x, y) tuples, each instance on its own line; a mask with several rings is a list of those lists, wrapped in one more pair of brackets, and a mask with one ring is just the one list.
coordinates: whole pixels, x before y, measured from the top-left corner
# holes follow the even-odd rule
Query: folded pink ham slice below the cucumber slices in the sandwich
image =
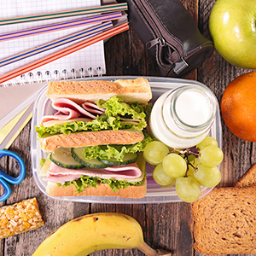
[(117, 180), (131, 179), (142, 176), (142, 171), (136, 163), (124, 166), (111, 166), (108, 168), (94, 169), (85, 167), (83, 169), (67, 169), (51, 163), (45, 181), (65, 183), (78, 179), (82, 175), (89, 177), (114, 178)]

